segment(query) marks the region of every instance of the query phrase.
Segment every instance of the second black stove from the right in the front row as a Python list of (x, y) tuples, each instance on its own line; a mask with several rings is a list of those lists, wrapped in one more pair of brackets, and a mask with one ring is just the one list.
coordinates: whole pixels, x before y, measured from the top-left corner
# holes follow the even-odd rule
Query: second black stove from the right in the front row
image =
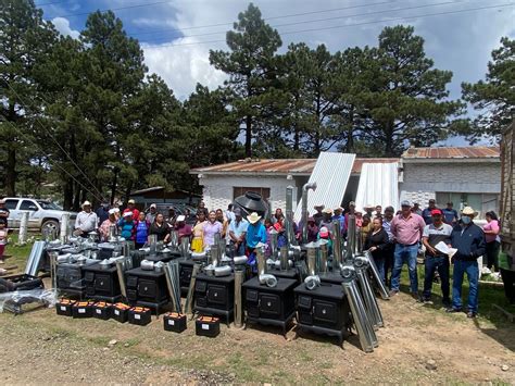
[(286, 328), (296, 314), (293, 289), (297, 285), (297, 278), (285, 277), (277, 277), (275, 287), (261, 284), (258, 276), (244, 282), (247, 322), (279, 326), (286, 335)]

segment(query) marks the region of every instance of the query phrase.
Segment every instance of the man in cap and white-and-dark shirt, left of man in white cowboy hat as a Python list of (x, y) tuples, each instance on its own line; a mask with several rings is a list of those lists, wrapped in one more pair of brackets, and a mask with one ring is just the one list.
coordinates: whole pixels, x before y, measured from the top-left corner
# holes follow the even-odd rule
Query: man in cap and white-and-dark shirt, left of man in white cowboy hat
[(443, 241), (445, 245), (451, 242), (452, 226), (443, 223), (443, 215), (439, 209), (431, 211), (432, 224), (424, 227), (422, 242), (426, 247), (426, 258), (424, 260), (424, 292), (420, 300), (430, 302), (431, 287), (435, 271), (438, 271), (441, 281), (442, 302), (445, 308), (451, 306), (449, 287), (449, 257), (440, 252), (435, 246)]

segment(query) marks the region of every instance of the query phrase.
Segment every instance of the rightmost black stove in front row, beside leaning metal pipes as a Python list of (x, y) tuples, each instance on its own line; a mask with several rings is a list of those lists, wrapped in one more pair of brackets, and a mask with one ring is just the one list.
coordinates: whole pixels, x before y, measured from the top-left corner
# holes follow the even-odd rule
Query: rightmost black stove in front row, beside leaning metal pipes
[(298, 326), (316, 334), (336, 336), (341, 345), (351, 325), (349, 301), (341, 285), (322, 283), (322, 286), (310, 290), (302, 283), (294, 294)]

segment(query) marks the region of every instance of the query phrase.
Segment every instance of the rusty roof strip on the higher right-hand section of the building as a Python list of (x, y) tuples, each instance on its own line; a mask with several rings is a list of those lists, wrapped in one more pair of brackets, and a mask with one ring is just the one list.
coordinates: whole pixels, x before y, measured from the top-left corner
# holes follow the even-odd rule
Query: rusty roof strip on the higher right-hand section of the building
[(499, 158), (499, 147), (441, 147), (441, 148), (410, 148), (402, 154), (403, 159), (477, 159)]

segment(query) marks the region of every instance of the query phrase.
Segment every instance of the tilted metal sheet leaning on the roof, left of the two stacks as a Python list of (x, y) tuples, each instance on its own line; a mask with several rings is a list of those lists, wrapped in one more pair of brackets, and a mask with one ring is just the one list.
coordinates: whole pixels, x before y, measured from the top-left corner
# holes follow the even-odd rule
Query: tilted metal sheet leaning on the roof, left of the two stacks
[[(327, 208), (341, 204), (347, 184), (351, 176), (355, 154), (322, 152), (316, 160), (309, 183), (316, 183), (316, 190), (307, 194), (307, 208), (324, 203)], [(310, 210), (310, 209), (307, 209)], [(299, 200), (294, 220), (299, 221), (302, 211), (302, 198)]]

